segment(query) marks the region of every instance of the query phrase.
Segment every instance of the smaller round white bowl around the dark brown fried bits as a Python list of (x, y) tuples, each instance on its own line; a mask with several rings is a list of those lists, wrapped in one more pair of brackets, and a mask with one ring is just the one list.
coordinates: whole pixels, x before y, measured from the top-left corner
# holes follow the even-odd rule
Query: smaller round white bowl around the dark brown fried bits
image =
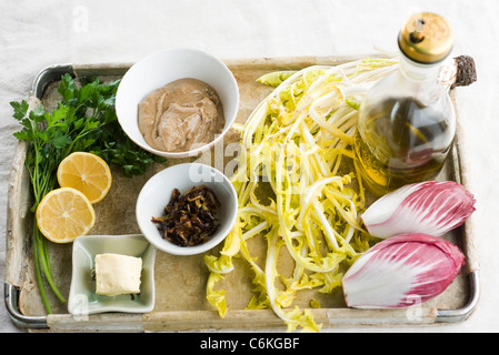
[[(179, 246), (161, 236), (152, 217), (164, 215), (171, 192), (181, 194), (193, 186), (207, 185), (220, 202), (218, 220), (220, 226), (211, 239), (194, 246)], [(174, 255), (194, 255), (209, 251), (222, 242), (232, 230), (238, 214), (238, 196), (232, 183), (217, 169), (204, 164), (186, 163), (167, 168), (143, 185), (137, 199), (137, 223), (146, 239), (158, 250)]]

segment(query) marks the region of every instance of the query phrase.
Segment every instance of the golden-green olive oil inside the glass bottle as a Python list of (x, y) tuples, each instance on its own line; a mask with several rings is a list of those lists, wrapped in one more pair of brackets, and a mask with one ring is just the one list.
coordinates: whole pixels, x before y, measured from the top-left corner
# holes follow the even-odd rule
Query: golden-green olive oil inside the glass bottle
[(355, 146), (363, 181), (377, 195), (440, 172), (453, 139), (441, 112), (402, 98), (387, 99), (366, 115)]

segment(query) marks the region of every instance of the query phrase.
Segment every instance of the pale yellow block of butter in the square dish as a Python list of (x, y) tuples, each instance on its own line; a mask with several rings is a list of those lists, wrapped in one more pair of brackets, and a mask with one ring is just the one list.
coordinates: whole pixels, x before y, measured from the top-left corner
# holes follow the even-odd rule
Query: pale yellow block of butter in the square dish
[(104, 253), (96, 255), (96, 293), (117, 296), (140, 292), (142, 258)]

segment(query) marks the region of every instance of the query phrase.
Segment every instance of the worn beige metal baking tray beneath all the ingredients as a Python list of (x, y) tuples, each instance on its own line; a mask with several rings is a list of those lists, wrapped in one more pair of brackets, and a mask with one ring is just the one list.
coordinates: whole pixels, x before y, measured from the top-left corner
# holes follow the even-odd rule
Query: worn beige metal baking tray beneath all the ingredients
[[(335, 65), (362, 57), (300, 57), (300, 58), (259, 58), (226, 60), (227, 65), (233, 72), (241, 95), (241, 104), (237, 122), (244, 122), (255, 106), (271, 91), (256, 82), (263, 73), (278, 70), (299, 70), (313, 64)], [(378, 55), (379, 57), (379, 55)], [(114, 80), (121, 78), (131, 63), (106, 63), (106, 64), (56, 64), (43, 69), (34, 79), (29, 92), (29, 101), (50, 101), (50, 97), (57, 91), (57, 82), (62, 74), (72, 77), (99, 77), (102, 80)], [(459, 100), (456, 89), (451, 91), (459, 121)], [(443, 169), (443, 179), (453, 180), (467, 185), (466, 152), (461, 149), (461, 131), (458, 124), (456, 143), (450, 158)], [(37, 298), (38, 287), (33, 274), (31, 261), (30, 221), (29, 212), (29, 179), (23, 166), (27, 144), (20, 142), (13, 153), (12, 171), (8, 191), (8, 226), (6, 235), (6, 280), (4, 302), (12, 322), (22, 328), (30, 331), (44, 329), (52, 332), (149, 332), (149, 331), (199, 331), (199, 329), (285, 329), (283, 322), (277, 317), (271, 310), (250, 311), (244, 310), (243, 303), (234, 295), (228, 298), (229, 310), (224, 318), (209, 306), (206, 301), (207, 271), (202, 268), (201, 258), (171, 260), (172, 256), (158, 252), (156, 261), (157, 302), (154, 310), (146, 314), (104, 313), (90, 315), (84, 320), (76, 320), (67, 311), (67, 305), (60, 304), (54, 307), (54, 313), (47, 315)], [(178, 161), (178, 163), (184, 161)], [(177, 163), (177, 162), (170, 162)], [(159, 166), (158, 169), (162, 169)], [(117, 189), (127, 189), (130, 195), (128, 204), (131, 205), (129, 220), (132, 221), (124, 226), (97, 227), (92, 234), (129, 234), (136, 233), (133, 211), (134, 200), (148, 176), (127, 180), (129, 178), (114, 178), (113, 184)], [(108, 199), (108, 197), (107, 197)], [(112, 199), (112, 197), (111, 197)], [(106, 199), (104, 199), (106, 200)], [(124, 204), (124, 203), (123, 203)], [(106, 214), (106, 206), (98, 210)], [(126, 211), (127, 212), (127, 211)], [(127, 214), (124, 214), (127, 216)], [(112, 219), (112, 216), (107, 216)], [(120, 216), (120, 220), (123, 215)], [(112, 221), (112, 220), (111, 220)], [(99, 226), (99, 222), (97, 224)], [(438, 297), (422, 304), (419, 308), (403, 310), (353, 310), (347, 308), (345, 303), (338, 300), (323, 304), (322, 308), (313, 308), (317, 323), (322, 323), (322, 328), (340, 326), (396, 326), (396, 325), (436, 325), (456, 323), (467, 320), (477, 306), (479, 300), (479, 262), (475, 248), (475, 235), (472, 229), (472, 216), (467, 223), (446, 236), (461, 247), (466, 255), (466, 265), (460, 275)], [(51, 245), (52, 273), (56, 282), (61, 285), (61, 291), (68, 294), (70, 283), (71, 245)], [(194, 265), (186, 274), (178, 272), (174, 280), (166, 281), (170, 276), (172, 264), (188, 263)], [(189, 266), (191, 267), (191, 266)], [(240, 276), (240, 275), (239, 275)], [(244, 284), (244, 280), (234, 275), (228, 283)], [(230, 278), (230, 277), (229, 277)], [(244, 278), (244, 277), (243, 277)], [(187, 282), (188, 280), (197, 283)], [(237, 292), (250, 292), (251, 282), (247, 277), (248, 285)], [(204, 283), (204, 284), (203, 284)], [(182, 285), (179, 291), (176, 287)], [(227, 292), (230, 294), (230, 290)], [(38, 296), (39, 297), (39, 296)], [(331, 300), (333, 297), (331, 296)], [(56, 300), (56, 298), (54, 298)], [(51, 302), (57, 304), (57, 302)]]

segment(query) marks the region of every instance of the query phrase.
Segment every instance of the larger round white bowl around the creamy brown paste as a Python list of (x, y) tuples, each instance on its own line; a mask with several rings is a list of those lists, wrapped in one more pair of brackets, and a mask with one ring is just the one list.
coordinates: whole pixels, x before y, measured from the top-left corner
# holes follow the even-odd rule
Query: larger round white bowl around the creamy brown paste
[[(139, 102), (153, 90), (183, 78), (201, 80), (217, 91), (223, 105), (223, 131), (212, 142), (190, 151), (164, 152), (153, 149), (139, 130)], [(213, 146), (229, 131), (238, 108), (239, 88), (232, 72), (221, 60), (196, 49), (162, 50), (142, 59), (123, 75), (116, 95), (116, 112), (124, 133), (142, 149), (171, 159), (197, 156)]]

